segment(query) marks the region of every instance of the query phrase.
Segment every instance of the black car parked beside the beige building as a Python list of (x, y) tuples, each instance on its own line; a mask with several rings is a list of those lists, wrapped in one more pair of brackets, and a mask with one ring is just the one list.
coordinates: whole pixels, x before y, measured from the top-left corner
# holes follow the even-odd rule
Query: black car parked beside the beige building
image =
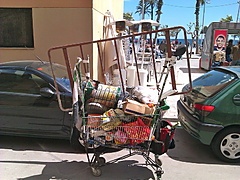
[(72, 117), (62, 111), (56, 96), (52, 70), (62, 106), (72, 107), (72, 91), (66, 68), (43, 61), (0, 63), (0, 134), (69, 139)]

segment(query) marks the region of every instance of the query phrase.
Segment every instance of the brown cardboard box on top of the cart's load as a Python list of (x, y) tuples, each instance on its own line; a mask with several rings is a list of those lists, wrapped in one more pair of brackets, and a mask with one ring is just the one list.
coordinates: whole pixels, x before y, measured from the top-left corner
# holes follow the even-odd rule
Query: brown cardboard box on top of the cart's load
[(147, 104), (143, 104), (131, 99), (127, 99), (123, 104), (123, 111), (126, 114), (152, 115), (154, 110), (154, 108), (150, 108)]

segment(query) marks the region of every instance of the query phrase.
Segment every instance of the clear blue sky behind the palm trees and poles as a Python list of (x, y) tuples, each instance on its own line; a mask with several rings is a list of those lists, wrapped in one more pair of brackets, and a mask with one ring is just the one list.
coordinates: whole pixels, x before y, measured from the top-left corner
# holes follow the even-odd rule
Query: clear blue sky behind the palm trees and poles
[[(207, 0), (208, 3), (200, 8), (200, 27), (208, 26), (211, 22), (219, 22), (221, 18), (232, 15), (233, 22), (240, 21), (237, 18), (239, 4), (238, 0)], [(141, 15), (135, 14), (139, 0), (124, 0), (124, 13), (133, 13), (134, 20), (141, 20)], [(188, 30), (188, 24), (195, 23), (196, 0), (163, 0), (161, 25), (183, 26)], [(204, 14), (204, 16), (203, 16)], [(145, 16), (145, 19), (150, 17)], [(155, 19), (154, 19), (155, 20)]]

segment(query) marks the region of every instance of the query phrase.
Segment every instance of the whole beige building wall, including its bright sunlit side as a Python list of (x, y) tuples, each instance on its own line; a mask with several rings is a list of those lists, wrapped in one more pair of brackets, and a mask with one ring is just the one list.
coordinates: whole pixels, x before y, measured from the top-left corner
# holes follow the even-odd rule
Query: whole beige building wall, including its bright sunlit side
[[(0, 48), (0, 62), (36, 57), (48, 60), (47, 51), (51, 47), (101, 39), (107, 10), (116, 20), (123, 15), (123, 0), (1, 0), (0, 7), (33, 8), (34, 33), (34, 48)], [(72, 64), (76, 62), (77, 53), (79, 49), (71, 52)], [(89, 47), (87, 54), (90, 55), (91, 74), (96, 79), (97, 50)], [(62, 52), (53, 55), (55, 62), (64, 64)]]

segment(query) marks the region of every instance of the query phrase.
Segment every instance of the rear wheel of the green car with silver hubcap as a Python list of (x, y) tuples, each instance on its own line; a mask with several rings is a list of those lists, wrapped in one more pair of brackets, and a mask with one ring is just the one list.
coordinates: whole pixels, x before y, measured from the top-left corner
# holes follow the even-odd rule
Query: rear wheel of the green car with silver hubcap
[(214, 137), (211, 147), (221, 160), (231, 163), (240, 162), (240, 128), (224, 129)]

